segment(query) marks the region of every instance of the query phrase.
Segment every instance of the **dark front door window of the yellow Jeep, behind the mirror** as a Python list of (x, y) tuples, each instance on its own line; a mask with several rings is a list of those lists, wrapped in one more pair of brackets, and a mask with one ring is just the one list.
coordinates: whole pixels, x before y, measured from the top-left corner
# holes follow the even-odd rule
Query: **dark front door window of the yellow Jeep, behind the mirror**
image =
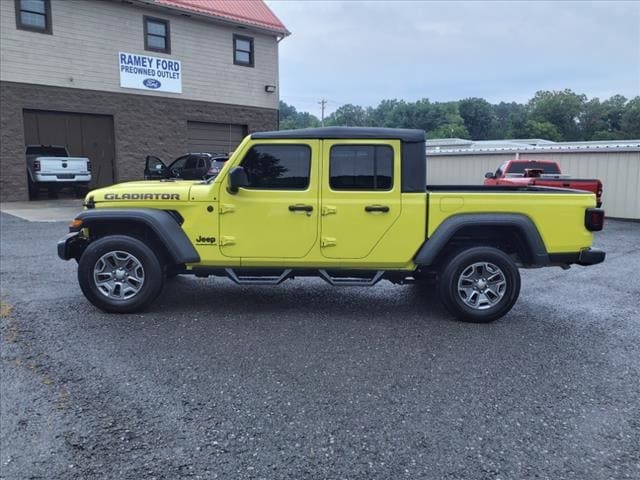
[(311, 148), (307, 145), (254, 145), (241, 165), (249, 188), (304, 190), (309, 186)]

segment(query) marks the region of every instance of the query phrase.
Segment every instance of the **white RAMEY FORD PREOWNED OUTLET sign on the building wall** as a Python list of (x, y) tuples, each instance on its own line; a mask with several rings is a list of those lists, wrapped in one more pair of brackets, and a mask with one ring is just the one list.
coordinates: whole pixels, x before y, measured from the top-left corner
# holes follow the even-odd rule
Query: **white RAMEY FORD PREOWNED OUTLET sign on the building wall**
[(170, 58), (120, 52), (120, 86), (182, 93), (182, 65)]

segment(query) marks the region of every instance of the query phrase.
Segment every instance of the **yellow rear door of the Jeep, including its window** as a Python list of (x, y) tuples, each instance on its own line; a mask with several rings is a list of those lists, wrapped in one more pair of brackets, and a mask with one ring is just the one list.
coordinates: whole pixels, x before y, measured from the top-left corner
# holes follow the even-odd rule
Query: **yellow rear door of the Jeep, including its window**
[(322, 255), (364, 259), (400, 216), (400, 142), (325, 140)]

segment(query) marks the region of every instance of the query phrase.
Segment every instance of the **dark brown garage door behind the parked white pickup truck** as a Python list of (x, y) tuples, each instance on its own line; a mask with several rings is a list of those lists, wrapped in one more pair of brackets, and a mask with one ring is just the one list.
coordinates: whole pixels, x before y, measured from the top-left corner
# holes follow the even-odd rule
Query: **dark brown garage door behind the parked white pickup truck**
[(25, 110), (24, 141), (25, 145), (64, 145), (71, 156), (89, 158), (90, 188), (113, 183), (115, 149), (111, 115)]

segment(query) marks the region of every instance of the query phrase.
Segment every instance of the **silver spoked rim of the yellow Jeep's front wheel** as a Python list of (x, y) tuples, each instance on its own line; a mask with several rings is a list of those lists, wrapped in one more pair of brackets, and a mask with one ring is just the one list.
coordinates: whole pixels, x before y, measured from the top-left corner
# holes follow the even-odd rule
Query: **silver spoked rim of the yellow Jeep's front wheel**
[(93, 267), (93, 281), (105, 297), (128, 300), (142, 289), (144, 268), (140, 260), (128, 252), (108, 252)]

